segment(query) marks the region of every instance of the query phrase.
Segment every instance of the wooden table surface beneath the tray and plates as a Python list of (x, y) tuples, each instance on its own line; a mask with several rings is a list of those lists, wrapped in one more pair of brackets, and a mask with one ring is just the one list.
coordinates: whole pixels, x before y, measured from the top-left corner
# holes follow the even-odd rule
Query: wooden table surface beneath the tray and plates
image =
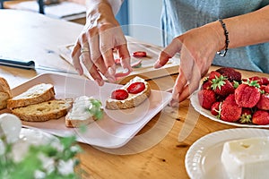
[[(41, 65), (74, 72), (73, 66), (59, 56), (57, 49), (74, 43), (81, 25), (49, 19), (39, 13), (12, 10), (1, 10), (0, 21), (1, 56), (34, 59)], [(216, 68), (212, 66), (210, 70)], [(0, 75), (12, 88), (44, 72), (0, 66)], [(240, 72), (244, 77), (269, 76)], [(176, 77), (171, 75), (149, 82), (152, 89), (168, 90)], [(88, 174), (84, 178), (188, 178), (184, 163), (187, 149), (205, 134), (230, 128), (234, 127), (199, 115), (187, 99), (179, 108), (165, 107), (120, 149), (98, 149), (81, 143), (81, 165)]]

